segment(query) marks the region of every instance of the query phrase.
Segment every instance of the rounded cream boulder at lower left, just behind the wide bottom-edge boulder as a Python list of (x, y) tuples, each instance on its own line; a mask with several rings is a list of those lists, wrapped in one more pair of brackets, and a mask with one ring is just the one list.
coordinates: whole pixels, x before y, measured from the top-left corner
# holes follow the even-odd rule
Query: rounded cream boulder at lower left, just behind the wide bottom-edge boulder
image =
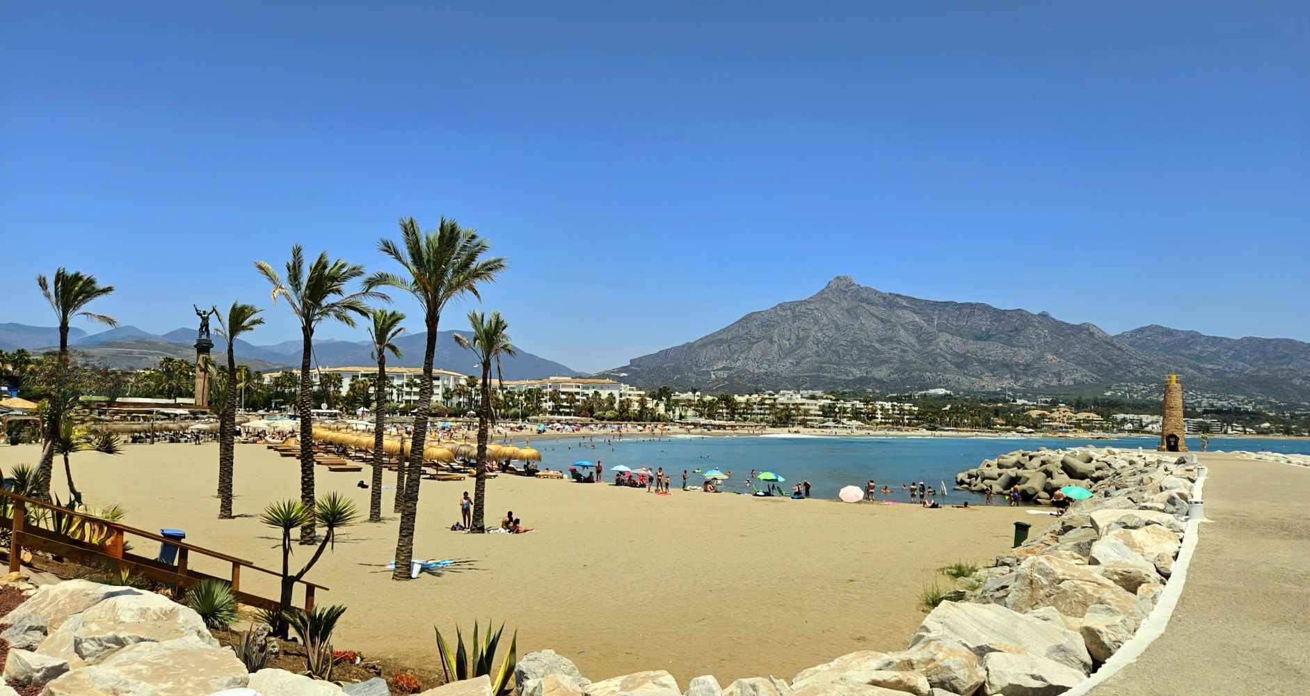
[(76, 668), (97, 665), (127, 645), (176, 640), (219, 646), (190, 607), (153, 592), (114, 595), (60, 623), (37, 651), (67, 659)]

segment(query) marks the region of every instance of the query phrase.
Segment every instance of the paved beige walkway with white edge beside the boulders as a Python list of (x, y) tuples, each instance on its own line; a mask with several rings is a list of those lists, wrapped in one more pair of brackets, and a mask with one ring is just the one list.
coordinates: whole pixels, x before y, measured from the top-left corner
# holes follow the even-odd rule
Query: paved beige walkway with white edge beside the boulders
[(1310, 468), (1200, 456), (1212, 522), (1178, 608), (1091, 696), (1310, 693)]

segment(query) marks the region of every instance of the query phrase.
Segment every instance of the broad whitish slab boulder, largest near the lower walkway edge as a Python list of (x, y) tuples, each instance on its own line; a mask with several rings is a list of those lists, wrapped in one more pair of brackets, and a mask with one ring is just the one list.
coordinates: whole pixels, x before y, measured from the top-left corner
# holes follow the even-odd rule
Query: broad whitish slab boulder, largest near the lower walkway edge
[(1022, 653), (1083, 674), (1091, 658), (1078, 633), (998, 604), (942, 602), (924, 619), (910, 648), (926, 640), (952, 641), (979, 659), (988, 653)]

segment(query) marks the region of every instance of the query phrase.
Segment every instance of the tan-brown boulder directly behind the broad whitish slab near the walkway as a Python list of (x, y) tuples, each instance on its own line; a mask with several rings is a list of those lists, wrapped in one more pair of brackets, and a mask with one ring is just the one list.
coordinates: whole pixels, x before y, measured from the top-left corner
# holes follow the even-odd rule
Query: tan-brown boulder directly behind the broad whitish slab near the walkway
[(1034, 556), (1023, 561), (1005, 606), (1027, 612), (1039, 607), (1055, 607), (1065, 616), (1083, 616), (1093, 604), (1108, 604), (1133, 619), (1133, 628), (1141, 620), (1137, 598), (1106, 579), (1091, 566), (1076, 565), (1055, 556)]

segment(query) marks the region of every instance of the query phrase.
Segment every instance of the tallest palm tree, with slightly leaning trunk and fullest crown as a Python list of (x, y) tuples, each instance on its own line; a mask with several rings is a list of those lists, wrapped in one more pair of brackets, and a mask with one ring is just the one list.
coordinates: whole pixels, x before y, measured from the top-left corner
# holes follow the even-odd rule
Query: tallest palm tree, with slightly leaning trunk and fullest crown
[(423, 351), (423, 379), (419, 381), (418, 408), (414, 409), (414, 436), (410, 442), (409, 472), (405, 490), (398, 486), (401, 524), (396, 537), (396, 571), (393, 579), (409, 579), (414, 557), (414, 519), (418, 515), (418, 482), (427, 444), (427, 419), (432, 412), (432, 358), (436, 353), (436, 329), (445, 303), (461, 295), (478, 295), (478, 286), (490, 283), (506, 269), (500, 257), (482, 258), (490, 246), (477, 232), (461, 228), (455, 220), (441, 218), (435, 232), (422, 232), (414, 218), (401, 220), (401, 244), (384, 239), (379, 250), (396, 260), (403, 275), (375, 273), (365, 287), (396, 287), (418, 300), (423, 308), (427, 345)]

